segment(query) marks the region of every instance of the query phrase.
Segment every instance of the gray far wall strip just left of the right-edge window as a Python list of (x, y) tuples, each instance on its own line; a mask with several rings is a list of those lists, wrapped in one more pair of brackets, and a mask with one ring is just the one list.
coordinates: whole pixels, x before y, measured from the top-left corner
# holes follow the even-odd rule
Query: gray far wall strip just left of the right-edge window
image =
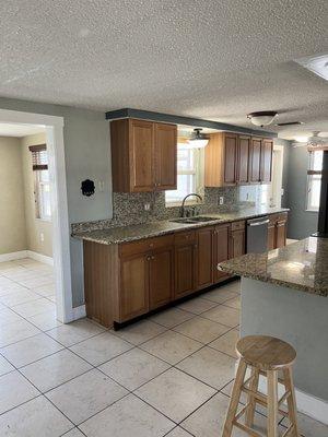
[(290, 147), (288, 165), (289, 238), (302, 239), (317, 231), (318, 213), (306, 211), (308, 153)]

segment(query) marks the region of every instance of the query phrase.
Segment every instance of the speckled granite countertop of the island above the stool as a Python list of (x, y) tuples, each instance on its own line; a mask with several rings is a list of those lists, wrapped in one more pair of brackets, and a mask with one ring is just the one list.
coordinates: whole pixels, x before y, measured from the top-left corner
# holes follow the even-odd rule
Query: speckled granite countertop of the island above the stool
[(247, 253), (218, 269), (327, 297), (328, 239), (309, 237), (269, 252)]

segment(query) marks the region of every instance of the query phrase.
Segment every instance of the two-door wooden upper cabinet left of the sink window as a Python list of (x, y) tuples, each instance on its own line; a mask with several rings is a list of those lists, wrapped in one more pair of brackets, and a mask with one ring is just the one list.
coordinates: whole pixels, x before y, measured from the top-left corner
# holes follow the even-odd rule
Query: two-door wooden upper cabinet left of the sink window
[(177, 127), (122, 119), (110, 122), (113, 190), (176, 189)]

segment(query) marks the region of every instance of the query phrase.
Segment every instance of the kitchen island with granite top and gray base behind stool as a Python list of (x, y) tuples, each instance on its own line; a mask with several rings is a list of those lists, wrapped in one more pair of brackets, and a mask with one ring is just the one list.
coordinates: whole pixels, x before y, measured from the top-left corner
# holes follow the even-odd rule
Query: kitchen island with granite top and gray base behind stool
[(306, 238), (219, 264), (242, 276), (241, 334), (291, 343), (297, 405), (328, 423), (328, 239)]

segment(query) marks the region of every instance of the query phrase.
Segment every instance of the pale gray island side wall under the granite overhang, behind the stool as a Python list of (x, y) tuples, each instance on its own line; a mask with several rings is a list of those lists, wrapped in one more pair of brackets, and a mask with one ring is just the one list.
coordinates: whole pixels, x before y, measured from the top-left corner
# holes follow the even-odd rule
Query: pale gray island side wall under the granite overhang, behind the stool
[(328, 298), (242, 279), (242, 335), (273, 335), (297, 353), (295, 387), (328, 401)]

